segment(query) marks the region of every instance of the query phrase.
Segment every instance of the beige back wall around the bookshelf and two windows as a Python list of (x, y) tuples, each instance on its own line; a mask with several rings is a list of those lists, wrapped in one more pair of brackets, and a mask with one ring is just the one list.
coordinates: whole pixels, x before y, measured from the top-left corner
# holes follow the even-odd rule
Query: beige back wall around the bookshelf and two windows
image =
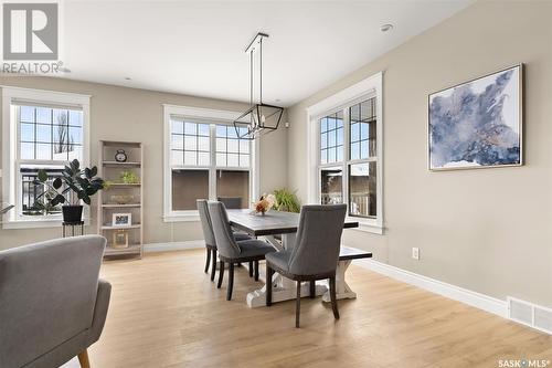
[[(237, 112), (245, 109), (246, 105), (227, 101), (47, 77), (0, 77), (0, 85), (92, 95), (91, 159), (94, 165), (97, 165), (99, 139), (136, 140), (142, 141), (145, 145), (145, 242), (185, 241), (203, 238), (197, 222), (166, 223), (162, 221), (163, 115), (161, 104)], [(264, 167), (270, 166), (270, 169), (263, 169), (261, 172), (259, 185), (262, 191), (272, 191), (275, 188), (286, 186), (286, 143), (285, 128), (266, 135), (261, 140), (261, 164)], [(92, 212), (95, 218), (95, 208), (93, 208)], [(96, 231), (94, 218), (92, 227), (88, 227), (86, 232)], [(60, 234), (61, 229), (0, 229), (0, 249), (52, 239)]]

